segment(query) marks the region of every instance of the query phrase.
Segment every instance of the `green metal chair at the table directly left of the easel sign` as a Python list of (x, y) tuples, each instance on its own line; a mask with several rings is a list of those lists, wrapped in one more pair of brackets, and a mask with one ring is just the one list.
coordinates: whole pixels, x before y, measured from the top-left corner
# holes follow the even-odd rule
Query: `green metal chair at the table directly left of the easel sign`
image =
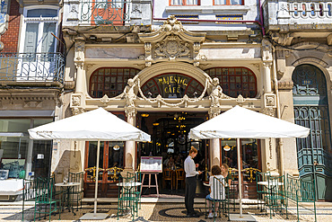
[(118, 183), (118, 218), (120, 215), (130, 212), (138, 216), (138, 204), (140, 202), (140, 189), (136, 185), (141, 173), (130, 173), (120, 176)]

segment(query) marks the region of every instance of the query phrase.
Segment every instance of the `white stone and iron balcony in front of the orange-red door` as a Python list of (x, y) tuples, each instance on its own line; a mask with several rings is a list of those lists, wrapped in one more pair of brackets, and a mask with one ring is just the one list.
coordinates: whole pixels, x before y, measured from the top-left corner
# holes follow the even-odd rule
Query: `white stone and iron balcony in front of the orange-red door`
[(64, 27), (150, 25), (151, 0), (65, 0)]

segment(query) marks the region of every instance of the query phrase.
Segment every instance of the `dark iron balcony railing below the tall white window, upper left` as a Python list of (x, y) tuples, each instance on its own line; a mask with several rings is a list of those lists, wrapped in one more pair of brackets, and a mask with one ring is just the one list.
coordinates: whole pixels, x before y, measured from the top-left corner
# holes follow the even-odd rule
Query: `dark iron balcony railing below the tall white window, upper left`
[(0, 53), (0, 81), (64, 82), (61, 53)]

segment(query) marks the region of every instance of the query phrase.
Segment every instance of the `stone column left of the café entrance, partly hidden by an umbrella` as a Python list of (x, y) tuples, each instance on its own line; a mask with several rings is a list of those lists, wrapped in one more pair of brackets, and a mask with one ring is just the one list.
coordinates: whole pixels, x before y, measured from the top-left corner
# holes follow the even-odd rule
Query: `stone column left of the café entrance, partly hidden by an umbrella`
[[(135, 117), (137, 111), (135, 107), (126, 107), (127, 123), (135, 126)], [(125, 146), (125, 170), (135, 170), (135, 141), (126, 141)]]

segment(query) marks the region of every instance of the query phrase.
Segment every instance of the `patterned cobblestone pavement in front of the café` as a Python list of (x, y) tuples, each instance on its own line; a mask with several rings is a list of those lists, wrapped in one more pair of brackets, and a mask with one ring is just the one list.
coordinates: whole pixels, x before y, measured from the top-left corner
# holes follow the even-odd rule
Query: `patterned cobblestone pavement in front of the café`
[[(122, 216), (117, 220), (117, 204), (111, 205), (98, 205), (98, 212), (108, 213), (109, 218), (103, 221), (132, 221), (130, 215)], [(296, 218), (296, 206), (292, 205), (289, 208), (289, 218), (286, 219), (285, 215), (275, 215), (272, 219), (265, 212), (261, 212), (257, 205), (244, 205), (243, 213), (249, 213), (258, 221), (297, 221)], [(33, 221), (33, 206), (27, 206), (24, 210), (24, 220)], [(182, 203), (143, 203), (141, 209), (139, 210), (138, 217), (135, 217), (134, 221), (197, 221), (197, 222), (208, 222), (214, 221), (213, 219), (205, 218), (205, 204), (195, 204), (195, 209), (197, 213), (200, 214), (199, 218), (186, 218), (185, 217), (185, 207)], [(314, 221), (313, 211), (310, 209), (300, 210), (300, 220), (301, 221)], [(66, 209), (61, 213), (61, 221), (80, 221), (79, 218), (83, 214), (88, 212), (93, 212), (93, 205), (83, 205), (83, 209), (76, 211), (76, 215), (72, 212), (68, 212)], [(231, 213), (232, 213), (231, 209)], [(58, 221), (58, 214), (52, 216), (52, 221)], [(22, 220), (22, 206), (20, 205), (2, 205), (0, 206), (0, 221), (21, 221)], [(47, 219), (48, 220), (48, 219)], [(225, 217), (216, 218), (216, 221), (227, 221)], [(320, 221), (332, 221), (332, 203), (325, 204), (323, 207), (319, 206), (317, 208), (317, 220)], [(38, 220), (37, 220), (38, 221)], [(46, 219), (41, 218), (40, 221), (46, 221)], [(85, 221), (85, 220), (84, 220)], [(96, 220), (93, 220), (96, 221)]]

